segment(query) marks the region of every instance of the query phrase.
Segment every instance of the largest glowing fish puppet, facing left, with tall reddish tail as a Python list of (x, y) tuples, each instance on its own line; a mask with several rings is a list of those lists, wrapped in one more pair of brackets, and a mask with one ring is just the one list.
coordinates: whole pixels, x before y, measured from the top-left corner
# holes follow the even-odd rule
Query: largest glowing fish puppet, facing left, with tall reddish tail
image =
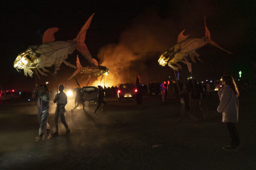
[(54, 34), (58, 31), (58, 28), (47, 29), (44, 32), (42, 44), (31, 45), (25, 52), (20, 53), (15, 59), (14, 68), (18, 71), (23, 69), (25, 76), (29, 74), (32, 77), (33, 72), (35, 72), (39, 77), (38, 72), (41, 75), (47, 75), (44, 73), (49, 72), (46, 67), (54, 65), (54, 74), (57, 74), (62, 62), (76, 68), (75, 65), (65, 60), (68, 54), (72, 54), (74, 50), (78, 50), (93, 65), (93, 58), (84, 43), (86, 31), (90, 26), (93, 15), (86, 21), (74, 40), (55, 41)]

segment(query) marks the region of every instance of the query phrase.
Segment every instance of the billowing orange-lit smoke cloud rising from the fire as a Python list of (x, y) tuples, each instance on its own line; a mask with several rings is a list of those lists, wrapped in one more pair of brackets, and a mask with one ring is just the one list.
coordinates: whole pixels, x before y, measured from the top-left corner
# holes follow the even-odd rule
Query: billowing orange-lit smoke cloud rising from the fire
[[(132, 20), (120, 35), (118, 44), (106, 45), (98, 53), (100, 65), (110, 68), (110, 74), (105, 76), (105, 85), (135, 83), (137, 75), (147, 84), (147, 75), (156, 71), (159, 55), (176, 42), (174, 25), (172, 20), (164, 20), (150, 10)], [(145, 64), (148, 59), (155, 61), (151, 68)], [(104, 85), (100, 79), (93, 85)]]

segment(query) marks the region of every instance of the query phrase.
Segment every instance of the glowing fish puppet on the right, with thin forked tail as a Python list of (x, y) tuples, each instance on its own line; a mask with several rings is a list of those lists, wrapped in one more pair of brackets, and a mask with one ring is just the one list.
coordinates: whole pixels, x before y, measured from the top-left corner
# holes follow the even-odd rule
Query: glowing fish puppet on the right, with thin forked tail
[[(188, 58), (190, 58), (193, 62), (195, 62), (195, 57), (197, 57), (198, 60), (201, 61), (201, 59), (199, 59), (199, 54), (196, 52), (197, 49), (210, 43), (215, 47), (218, 47), (221, 50), (224, 50), (218, 44), (212, 41), (210, 36), (210, 31), (206, 26), (205, 17), (204, 17), (204, 26), (205, 26), (205, 37), (202, 37), (202, 38), (188, 38), (189, 35), (183, 35), (183, 32), (185, 30), (181, 31), (177, 39), (177, 44), (174, 45), (165, 53), (163, 53), (158, 59), (158, 63), (162, 66), (168, 65), (172, 69), (178, 71), (179, 68), (181, 69), (181, 65), (178, 64), (177, 62), (183, 62), (188, 66), (189, 72), (191, 73), (192, 63), (188, 61)], [(231, 54), (229, 51), (226, 51), (226, 52)]]

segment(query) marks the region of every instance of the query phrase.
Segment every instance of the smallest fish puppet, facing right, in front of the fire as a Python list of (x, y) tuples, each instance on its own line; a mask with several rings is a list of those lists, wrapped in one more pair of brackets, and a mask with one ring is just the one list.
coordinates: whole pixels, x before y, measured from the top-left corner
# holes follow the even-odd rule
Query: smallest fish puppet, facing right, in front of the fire
[(88, 75), (90, 78), (104, 76), (104, 75), (109, 74), (109, 68), (99, 65), (96, 59), (93, 59), (93, 64), (94, 64), (94, 66), (82, 67), (79, 58), (76, 57), (77, 69), (68, 80), (70, 80), (72, 77), (75, 77), (79, 73)]

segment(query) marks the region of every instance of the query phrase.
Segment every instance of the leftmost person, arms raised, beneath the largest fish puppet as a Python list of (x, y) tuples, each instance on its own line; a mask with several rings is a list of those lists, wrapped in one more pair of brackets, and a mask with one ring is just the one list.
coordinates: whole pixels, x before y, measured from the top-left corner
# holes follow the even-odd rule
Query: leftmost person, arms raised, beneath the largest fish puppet
[(49, 131), (50, 126), (47, 123), (47, 119), (49, 117), (49, 101), (50, 95), (47, 88), (47, 85), (42, 84), (38, 89), (38, 84), (35, 85), (34, 95), (38, 96), (38, 122), (40, 125), (38, 136), (36, 140), (46, 139)]

